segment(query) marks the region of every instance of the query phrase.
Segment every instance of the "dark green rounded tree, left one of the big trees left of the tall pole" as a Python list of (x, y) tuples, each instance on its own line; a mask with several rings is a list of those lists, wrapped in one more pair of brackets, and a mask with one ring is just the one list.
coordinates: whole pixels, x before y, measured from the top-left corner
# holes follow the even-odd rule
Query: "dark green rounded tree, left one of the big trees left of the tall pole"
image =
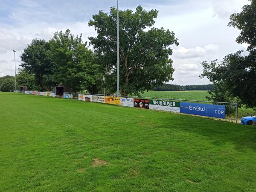
[(55, 81), (47, 81), (46, 79), (52, 79), (51, 76), (56, 70), (56, 66), (52, 64), (49, 59), (49, 42), (40, 39), (33, 39), (26, 49), (21, 53), (20, 66), (28, 73), (32, 73), (35, 76), (35, 84), (42, 89), (50, 89), (55, 85)]

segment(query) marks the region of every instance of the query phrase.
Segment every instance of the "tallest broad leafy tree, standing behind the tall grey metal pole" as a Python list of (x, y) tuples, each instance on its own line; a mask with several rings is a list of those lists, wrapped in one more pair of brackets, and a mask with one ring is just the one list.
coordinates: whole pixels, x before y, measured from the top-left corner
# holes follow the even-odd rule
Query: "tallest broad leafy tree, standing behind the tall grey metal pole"
[[(139, 94), (151, 85), (163, 85), (172, 80), (172, 44), (178, 45), (175, 34), (152, 27), (157, 10), (146, 12), (138, 6), (136, 12), (119, 12), (120, 93)], [(97, 62), (105, 71), (112, 92), (116, 90), (116, 9), (110, 14), (102, 11), (88, 23), (94, 26), (97, 37), (90, 37)], [(146, 30), (149, 29), (149, 30)]]

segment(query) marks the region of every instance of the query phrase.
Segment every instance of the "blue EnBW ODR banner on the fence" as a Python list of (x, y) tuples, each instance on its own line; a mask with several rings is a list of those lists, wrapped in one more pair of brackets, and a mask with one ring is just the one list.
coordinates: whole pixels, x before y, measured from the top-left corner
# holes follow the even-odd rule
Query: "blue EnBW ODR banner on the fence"
[(225, 105), (180, 102), (180, 113), (225, 119)]

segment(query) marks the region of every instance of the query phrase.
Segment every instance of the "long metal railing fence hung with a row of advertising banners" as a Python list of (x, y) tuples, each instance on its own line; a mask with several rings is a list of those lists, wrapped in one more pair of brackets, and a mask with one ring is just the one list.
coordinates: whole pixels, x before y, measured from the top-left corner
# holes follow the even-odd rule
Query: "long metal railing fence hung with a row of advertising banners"
[(238, 122), (237, 103), (68, 92), (64, 92), (63, 95), (56, 96), (55, 92), (38, 90), (26, 90), (22, 93), (40, 96), (62, 97), (64, 99), (77, 99), (80, 101), (99, 102), (132, 108), (185, 113), (196, 116), (207, 116), (217, 119), (228, 119), (235, 121), (236, 123)]

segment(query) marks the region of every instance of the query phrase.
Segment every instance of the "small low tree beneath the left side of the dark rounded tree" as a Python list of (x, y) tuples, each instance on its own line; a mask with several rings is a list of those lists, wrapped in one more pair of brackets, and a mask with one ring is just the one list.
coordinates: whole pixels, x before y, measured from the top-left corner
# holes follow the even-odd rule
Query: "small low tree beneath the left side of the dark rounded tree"
[(26, 70), (20, 70), (16, 76), (17, 84), (26, 86), (28, 90), (34, 90), (35, 76)]

